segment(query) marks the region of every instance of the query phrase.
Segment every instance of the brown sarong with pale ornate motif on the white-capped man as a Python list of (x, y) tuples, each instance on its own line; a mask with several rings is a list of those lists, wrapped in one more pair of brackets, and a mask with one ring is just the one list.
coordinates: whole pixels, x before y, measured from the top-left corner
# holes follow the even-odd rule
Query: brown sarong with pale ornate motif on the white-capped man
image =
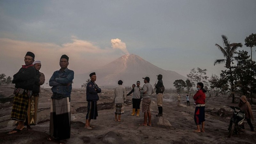
[(31, 96), (28, 99), (28, 116), (27, 116), (27, 125), (36, 125), (36, 116), (37, 116), (37, 108), (38, 108), (38, 98), (37, 96)]

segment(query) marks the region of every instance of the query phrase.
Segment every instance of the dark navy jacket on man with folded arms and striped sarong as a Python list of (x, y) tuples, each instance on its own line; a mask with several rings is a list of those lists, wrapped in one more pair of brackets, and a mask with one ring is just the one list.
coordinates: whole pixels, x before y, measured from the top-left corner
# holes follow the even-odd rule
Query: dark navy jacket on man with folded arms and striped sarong
[[(97, 89), (95, 91), (95, 89)], [(97, 101), (99, 100), (98, 93), (101, 92), (101, 89), (97, 84), (90, 81), (86, 86), (86, 101)]]

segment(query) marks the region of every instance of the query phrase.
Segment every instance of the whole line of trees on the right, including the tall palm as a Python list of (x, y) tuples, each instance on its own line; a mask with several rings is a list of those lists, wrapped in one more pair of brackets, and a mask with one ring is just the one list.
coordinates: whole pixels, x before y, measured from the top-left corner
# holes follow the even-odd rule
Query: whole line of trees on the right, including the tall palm
[(247, 36), (244, 40), (245, 46), (251, 48), (251, 55), (247, 51), (239, 50), (242, 43), (231, 43), (227, 36), (222, 35), (223, 47), (219, 44), (215, 46), (221, 51), (224, 59), (215, 60), (213, 65), (224, 64), (225, 70), (222, 70), (220, 77), (212, 74), (211, 77), (206, 76), (207, 69), (192, 68), (187, 75), (186, 82), (183, 80), (175, 80), (173, 83), (176, 92), (180, 93), (186, 88), (186, 93), (194, 92), (193, 87), (196, 83), (203, 82), (204, 89), (209, 95), (229, 94), (232, 97), (232, 103), (235, 103), (236, 95), (245, 95), (247, 98), (253, 98), (256, 93), (256, 63), (252, 60), (252, 48), (256, 46), (256, 34)]

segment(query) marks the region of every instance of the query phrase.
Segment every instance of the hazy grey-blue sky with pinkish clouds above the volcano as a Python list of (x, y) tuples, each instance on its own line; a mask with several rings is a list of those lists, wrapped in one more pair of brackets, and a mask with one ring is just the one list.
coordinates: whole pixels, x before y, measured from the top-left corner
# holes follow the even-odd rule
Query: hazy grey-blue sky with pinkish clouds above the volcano
[(0, 74), (13, 76), (31, 51), (46, 79), (62, 54), (75, 74), (133, 53), (183, 76), (197, 67), (219, 75), (221, 35), (244, 45), (252, 33), (255, 0), (1, 0)]

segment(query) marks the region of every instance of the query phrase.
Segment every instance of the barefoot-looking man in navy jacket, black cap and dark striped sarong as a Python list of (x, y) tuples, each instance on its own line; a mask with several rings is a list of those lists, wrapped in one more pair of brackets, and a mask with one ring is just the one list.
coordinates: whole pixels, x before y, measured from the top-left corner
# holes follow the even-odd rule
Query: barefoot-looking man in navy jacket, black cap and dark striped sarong
[(84, 128), (91, 130), (95, 128), (91, 125), (91, 119), (96, 119), (98, 116), (97, 101), (99, 100), (98, 93), (101, 92), (101, 89), (95, 83), (96, 73), (93, 72), (90, 75), (91, 81), (86, 86), (86, 101), (87, 103), (87, 114)]

